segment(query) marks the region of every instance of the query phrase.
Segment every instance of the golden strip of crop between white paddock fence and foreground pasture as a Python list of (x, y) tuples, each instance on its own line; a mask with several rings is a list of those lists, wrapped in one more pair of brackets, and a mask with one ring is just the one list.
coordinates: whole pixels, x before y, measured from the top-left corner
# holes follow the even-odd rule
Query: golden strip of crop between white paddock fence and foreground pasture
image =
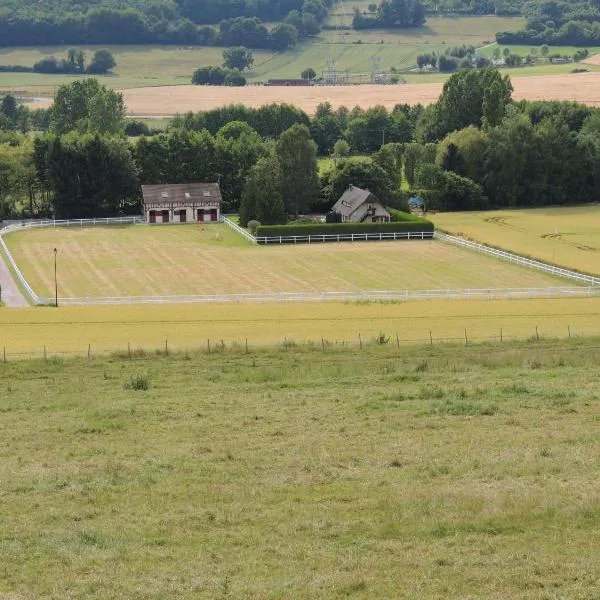
[[(398, 303), (127, 305), (0, 309), (0, 353), (8, 359), (143, 348), (207, 350), (288, 343), (365, 343), (383, 333), (396, 345), (441, 341), (600, 335), (600, 298)], [(431, 337), (430, 337), (431, 336)], [(0, 354), (0, 361), (2, 356)]]

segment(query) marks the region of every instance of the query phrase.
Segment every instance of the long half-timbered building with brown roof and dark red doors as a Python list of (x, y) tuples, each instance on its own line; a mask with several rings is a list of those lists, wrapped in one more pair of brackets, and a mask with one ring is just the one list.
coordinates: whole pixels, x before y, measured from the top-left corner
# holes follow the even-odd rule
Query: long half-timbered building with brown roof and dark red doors
[(148, 223), (206, 223), (221, 218), (218, 183), (165, 183), (142, 186)]

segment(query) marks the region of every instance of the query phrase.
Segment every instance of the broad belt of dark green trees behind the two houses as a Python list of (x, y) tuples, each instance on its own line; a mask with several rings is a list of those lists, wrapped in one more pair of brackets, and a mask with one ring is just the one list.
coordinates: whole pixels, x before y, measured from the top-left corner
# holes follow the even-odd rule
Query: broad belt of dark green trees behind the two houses
[(189, 181), (218, 181), (226, 211), (263, 224), (326, 213), (350, 184), (399, 209), (411, 194), (444, 211), (596, 201), (600, 110), (511, 93), (495, 69), (461, 70), (427, 107), (233, 105), (160, 133), (126, 120), (121, 94), (95, 79), (61, 86), (50, 111), (6, 96), (0, 218), (137, 213), (141, 183)]

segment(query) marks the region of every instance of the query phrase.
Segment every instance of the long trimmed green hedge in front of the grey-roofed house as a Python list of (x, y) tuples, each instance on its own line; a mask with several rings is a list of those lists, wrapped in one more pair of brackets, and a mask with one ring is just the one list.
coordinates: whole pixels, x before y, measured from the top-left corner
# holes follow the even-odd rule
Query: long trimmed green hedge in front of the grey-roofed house
[(290, 235), (336, 235), (338, 233), (408, 233), (433, 231), (433, 223), (427, 219), (396, 223), (317, 223), (315, 225), (261, 225), (256, 237)]

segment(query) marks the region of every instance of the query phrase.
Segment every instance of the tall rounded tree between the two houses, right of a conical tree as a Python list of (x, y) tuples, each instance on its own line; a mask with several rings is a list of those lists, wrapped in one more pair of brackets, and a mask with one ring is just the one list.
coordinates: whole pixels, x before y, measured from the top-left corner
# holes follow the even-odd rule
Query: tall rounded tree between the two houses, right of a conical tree
[(288, 213), (298, 216), (319, 196), (317, 147), (306, 125), (292, 125), (276, 145), (283, 176), (282, 193)]

